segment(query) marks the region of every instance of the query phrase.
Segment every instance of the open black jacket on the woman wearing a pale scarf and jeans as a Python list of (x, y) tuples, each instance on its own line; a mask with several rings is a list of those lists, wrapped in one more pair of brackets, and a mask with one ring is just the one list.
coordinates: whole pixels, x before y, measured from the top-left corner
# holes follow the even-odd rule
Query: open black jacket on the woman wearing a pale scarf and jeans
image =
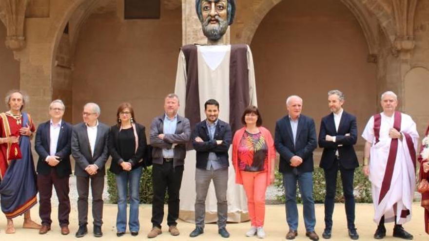
[(109, 153), (112, 156), (112, 164), (110, 164), (110, 171), (119, 174), (123, 169), (120, 166), (122, 162), (130, 162), (133, 169), (137, 167), (141, 167), (144, 164), (143, 154), (145, 152), (146, 147), (146, 134), (145, 134), (145, 127), (136, 123), (136, 132), (138, 136), (138, 147), (136, 153), (131, 157), (130, 160), (123, 160), (122, 157), (119, 155), (120, 149), (119, 149), (119, 128), (117, 125), (114, 125), (110, 128), (109, 131), (109, 141), (108, 141), (108, 147), (109, 147)]

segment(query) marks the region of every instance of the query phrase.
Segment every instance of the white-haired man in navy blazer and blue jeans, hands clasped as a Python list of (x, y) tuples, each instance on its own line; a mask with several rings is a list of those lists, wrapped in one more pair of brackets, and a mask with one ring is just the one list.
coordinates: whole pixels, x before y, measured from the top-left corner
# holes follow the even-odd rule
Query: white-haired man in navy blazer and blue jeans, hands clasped
[(318, 240), (314, 232), (316, 218), (313, 200), (313, 150), (317, 147), (314, 120), (301, 114), (302, 99), (292, 95), (286, 100), (288, 115), (275, 124), (275, 149), (280, 154), (279, 171), (283, 174), (286, 192), (286, 220), (289, 232), (286, 239), (294, 239), (298, 233), (296, 207), (296, 182), (304, 204), (306, 236)]

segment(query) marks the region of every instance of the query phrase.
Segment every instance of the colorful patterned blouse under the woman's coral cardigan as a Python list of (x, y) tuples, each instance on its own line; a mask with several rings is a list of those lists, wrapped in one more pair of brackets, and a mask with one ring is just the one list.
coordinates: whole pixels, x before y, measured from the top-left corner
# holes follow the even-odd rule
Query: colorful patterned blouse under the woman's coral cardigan
[(238, 169), (244, 171), (267, 170), (268, 147), (261, 132), (244, 132), (238, 146)]

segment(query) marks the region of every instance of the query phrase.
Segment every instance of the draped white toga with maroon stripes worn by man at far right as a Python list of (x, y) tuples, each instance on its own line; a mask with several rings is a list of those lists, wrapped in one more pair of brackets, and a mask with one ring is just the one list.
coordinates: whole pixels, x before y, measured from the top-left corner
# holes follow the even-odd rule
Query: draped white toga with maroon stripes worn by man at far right
[[(389, 130), (393, 128), (395, 123), (395, 115), (389, 117), (380, 113), (379, 131), (374, 130), (374, 116), (372, 116), (362, 134), (366, 141), (372, 143), (369, 178), (375, 209), (374, 222), (376, 223), (379, 223), (384, 215), (385, 222), (393, 222), (396, 216), (396, 223), (402, 224), (408, 222), (412, 215), (411, 204), (415, 187), (415, 150), (419, 135), (416, 125), (409, 115), (400, 112), (396, 112), (396, 114), (399, 114), (399, 131), (403, 134), (402, 140), (398, 139), (397, 141), (396, 151), (391, 150), (393, 142), (389, 137)], [(379, 132), (378, 138), (377, 132)], [(394, 153), (396, 153), (396, 158), (392, 159), (393, 165), (390, 166), (393, 167), (393, 171), (388, 174), (388, 158)], [(383, 186), (385, 187), (383, 188)], [(383, 189), (387, 189), (387, 192)], [(382, 198), (380, 199), (380, 197)], [(396, 210), (394, 206), (396, 206)]]

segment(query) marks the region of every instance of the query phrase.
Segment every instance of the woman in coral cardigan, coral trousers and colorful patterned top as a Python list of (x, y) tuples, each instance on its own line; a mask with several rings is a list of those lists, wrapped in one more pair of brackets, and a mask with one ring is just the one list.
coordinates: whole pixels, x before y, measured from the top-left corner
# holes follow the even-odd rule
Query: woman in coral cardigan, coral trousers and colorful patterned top
[(246, 236), (265, 238), (265, 191), (274, 182), (274, 141), (270, 131), (261, 126), (257, 107), (247, 107), (241, 122), (244, 127), (235, 132), (233, 140), (235, 183), (246, 191), (252, 225)]

